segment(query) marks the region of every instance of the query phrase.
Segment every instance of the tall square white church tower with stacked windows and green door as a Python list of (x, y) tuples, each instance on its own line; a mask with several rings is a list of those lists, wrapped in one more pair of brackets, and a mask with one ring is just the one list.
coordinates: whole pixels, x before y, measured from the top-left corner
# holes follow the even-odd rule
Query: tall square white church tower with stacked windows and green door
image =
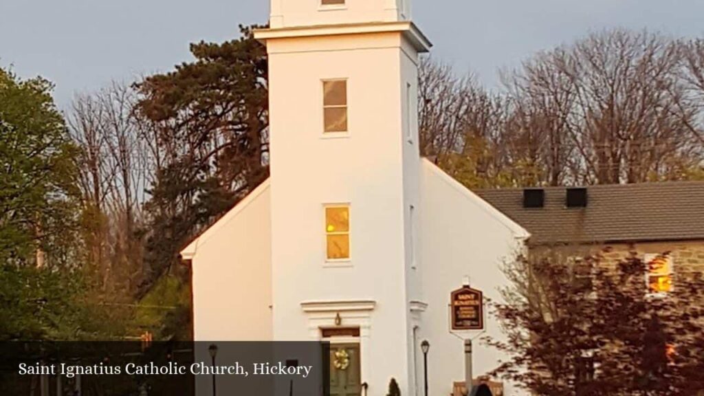
[[(410, 0), (271, 0), (275, 340), (351, 356), (333, 394), (420, 395), (417, 65)], [(337, 374), (336, 374), (337, 375)], [(337, 378), (337, 377), (335, 377)]]

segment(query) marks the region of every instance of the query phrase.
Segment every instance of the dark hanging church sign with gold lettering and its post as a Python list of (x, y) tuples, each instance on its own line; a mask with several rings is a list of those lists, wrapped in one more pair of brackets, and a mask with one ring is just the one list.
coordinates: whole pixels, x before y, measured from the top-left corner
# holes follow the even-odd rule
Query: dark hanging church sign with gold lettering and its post
[[(468, 282), (467, 282), (468, 283)], [(484, 330), (484, 295), (465, 284), (450, 293), (450, 321), (453, 331)], [(472, 392), (472, 338), (465, 341), (465, 388)]]

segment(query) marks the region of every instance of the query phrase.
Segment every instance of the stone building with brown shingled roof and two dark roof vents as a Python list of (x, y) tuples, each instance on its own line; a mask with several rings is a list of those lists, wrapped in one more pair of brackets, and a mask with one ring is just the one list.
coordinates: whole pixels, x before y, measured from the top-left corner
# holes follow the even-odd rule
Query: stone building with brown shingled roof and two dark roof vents
[(666, 293), (677, 273), (704, 272), (704, 182), (482, 190), (477, 194), (531, 234), (530, 252), (636, 252), (644, 287)]

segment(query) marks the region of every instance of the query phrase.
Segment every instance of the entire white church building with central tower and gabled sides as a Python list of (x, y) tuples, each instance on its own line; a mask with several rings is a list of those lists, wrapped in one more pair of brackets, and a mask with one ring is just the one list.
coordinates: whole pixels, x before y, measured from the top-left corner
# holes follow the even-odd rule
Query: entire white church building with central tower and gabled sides
[[(196, 340), (329, 340), (332, 395), (447, 396), (465, 377), (450, 293), (501, 301), (529, 235), (418, 148), (410, 0), (271, 0), (270, 178), (182, 251)], [(501, 339), (486, 316), (484, 335)], [(474, 343), (475, 377), (505, 356)], [(500, 378), (494, 380), (501, 381)], [(363, 386), (363, 384), (365, 384)], [(505, 395), (523, 395), (504, 383)]]

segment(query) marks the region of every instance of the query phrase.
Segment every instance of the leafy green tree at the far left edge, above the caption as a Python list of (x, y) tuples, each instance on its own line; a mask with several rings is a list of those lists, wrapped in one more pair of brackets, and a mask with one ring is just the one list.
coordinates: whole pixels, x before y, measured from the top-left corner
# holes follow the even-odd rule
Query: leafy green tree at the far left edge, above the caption
[(0, 340), (106, 334), (86, 294), (77, 155), (42, 78), (0, 69)]

